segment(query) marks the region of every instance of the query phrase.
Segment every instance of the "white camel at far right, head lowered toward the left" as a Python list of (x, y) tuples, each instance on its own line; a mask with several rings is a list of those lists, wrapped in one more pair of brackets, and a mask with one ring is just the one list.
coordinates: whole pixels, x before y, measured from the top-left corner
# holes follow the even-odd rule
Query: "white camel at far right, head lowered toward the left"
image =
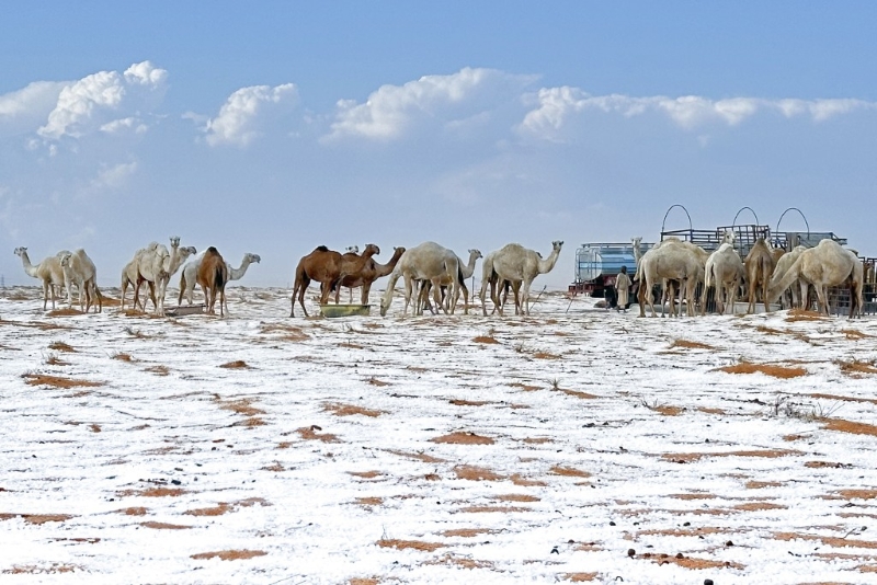
[(765, 302), (775, 301), (798, 278), (813, 285), (823, 314), (829, 314), (829, 287), (848, 285), (850, 319), (862, 317), (864, 265), (854, 252), (844, 250), (834, 240), (822, 240), (801, 252), (784, 275), (771, 280)]

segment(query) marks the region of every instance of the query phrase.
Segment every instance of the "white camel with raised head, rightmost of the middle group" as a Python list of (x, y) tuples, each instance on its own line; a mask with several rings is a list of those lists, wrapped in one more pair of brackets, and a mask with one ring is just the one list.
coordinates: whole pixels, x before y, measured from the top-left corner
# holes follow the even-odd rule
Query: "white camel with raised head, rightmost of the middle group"
[[(533, 285), (533, 280), (540, 274), (551, 272), (555, 264), (557, 264), (562, 246), (562, 241), (551, 242), (551, 253), (545, 260), (535, 250), (528, 250), (519, 243), (505, 244), (493, 253), (491, 273), (496, 273), (498, 283), (503, 280), (511, 283), (515, 296), (515, 313), (529, 314), (529, 288)], [(487, 263), (485, 263), (483, 269), (487, 271)], [(489, 284), (487, 280), (481, 283), (482, 307), (485, 287)], [(502, 316), (502, 305), (493, 287), (491, 287), (491, 300), (493, 306), (498, 308), (500, 316)]]

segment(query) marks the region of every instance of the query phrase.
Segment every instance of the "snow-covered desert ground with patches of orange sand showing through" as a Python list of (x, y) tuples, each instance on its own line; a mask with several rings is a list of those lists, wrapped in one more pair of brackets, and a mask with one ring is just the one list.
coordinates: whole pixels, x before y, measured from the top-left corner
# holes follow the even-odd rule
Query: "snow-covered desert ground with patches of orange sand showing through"
[(0, 582), (877, 583), (874, 318), (229, 307), (5, 290)]

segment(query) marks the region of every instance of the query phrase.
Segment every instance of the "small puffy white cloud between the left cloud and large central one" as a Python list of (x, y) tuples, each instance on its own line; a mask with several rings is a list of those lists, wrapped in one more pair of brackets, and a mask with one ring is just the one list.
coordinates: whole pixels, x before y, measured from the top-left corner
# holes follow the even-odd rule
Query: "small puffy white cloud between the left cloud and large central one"
[[(207, 144), (246, 147), (261, 134), (261, 129), (277, 116), (292, 111), (298, 103), (298, 90), (294, 83), (271, 88), (253, 85), (232, 93), (219, 115), (207, 121), (204, 130)], [(190, 115), (194, 119), (193, 115)]]

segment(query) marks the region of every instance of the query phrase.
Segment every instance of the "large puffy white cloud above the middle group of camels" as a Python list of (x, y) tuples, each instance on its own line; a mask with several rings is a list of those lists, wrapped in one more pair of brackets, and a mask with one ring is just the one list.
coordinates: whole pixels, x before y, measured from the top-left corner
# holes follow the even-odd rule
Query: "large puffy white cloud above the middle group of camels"
[(405, 85), (381, 85), (365, 103), (339, 101), (335, 122), (327, 138), (357, 136), (390, 140), (400, 137), (417, 121), (433, 118), (459, 128), (464, 119), (482, 122), (479, 114), (496, 107), (506, 95), (517, 95), (534, 79), (467, 67), (448, 76), (424, 76)]

